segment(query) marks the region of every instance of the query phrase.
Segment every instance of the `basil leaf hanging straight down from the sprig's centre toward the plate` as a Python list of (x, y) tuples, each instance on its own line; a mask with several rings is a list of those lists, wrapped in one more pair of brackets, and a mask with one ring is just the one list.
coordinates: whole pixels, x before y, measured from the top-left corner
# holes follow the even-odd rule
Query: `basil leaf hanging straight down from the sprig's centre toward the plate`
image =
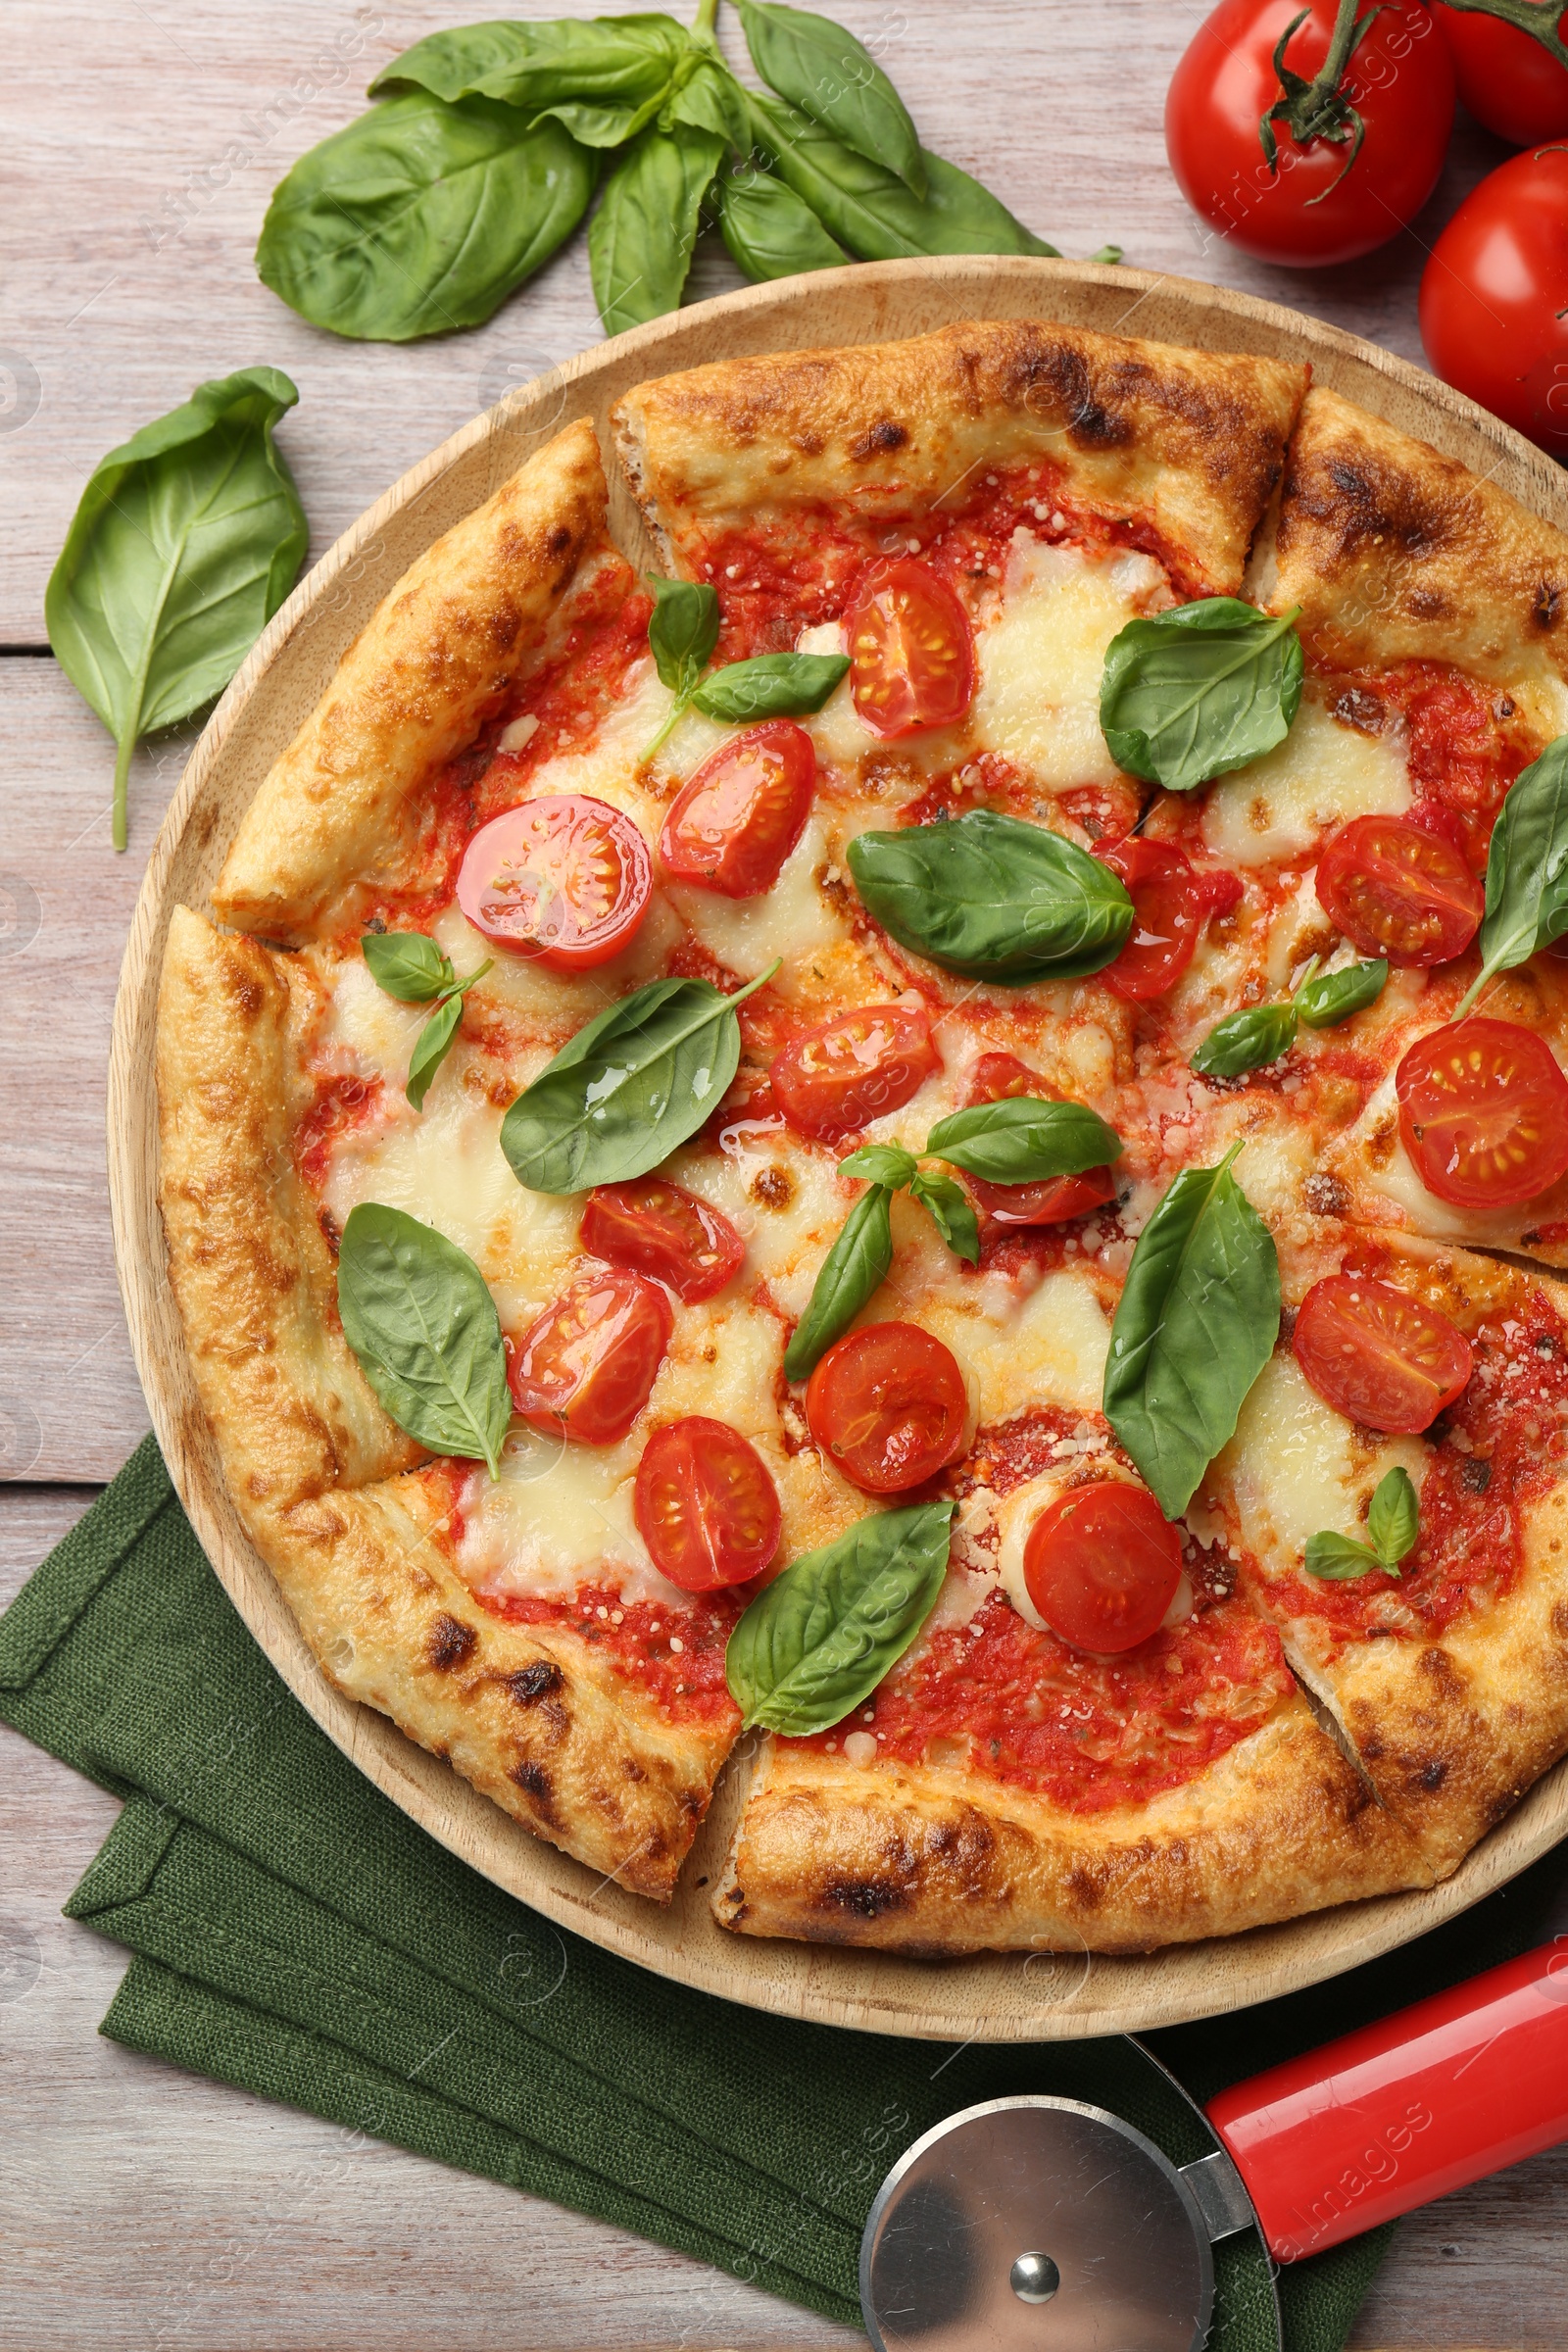
[(703, 198), (724, 141), (682, 125), (646, 129), (625, 151), (588, 223), (588, 270), (604, 334), (679, 310)]

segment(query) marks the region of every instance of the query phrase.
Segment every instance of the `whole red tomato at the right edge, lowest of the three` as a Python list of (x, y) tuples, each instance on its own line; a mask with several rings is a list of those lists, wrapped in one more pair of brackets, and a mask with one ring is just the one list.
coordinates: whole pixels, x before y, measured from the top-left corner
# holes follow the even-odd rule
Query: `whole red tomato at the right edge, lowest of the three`
[(1568, 459), (1568, 146), (1500, 165), (1465, 198), (1420, 282), (1432, 367)]

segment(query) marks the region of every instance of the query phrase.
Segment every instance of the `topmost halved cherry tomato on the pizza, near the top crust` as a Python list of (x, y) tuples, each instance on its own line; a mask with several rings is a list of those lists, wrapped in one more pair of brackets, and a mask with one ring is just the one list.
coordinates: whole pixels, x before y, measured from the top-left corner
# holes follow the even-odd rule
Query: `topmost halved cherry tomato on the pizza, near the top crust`
[(929, 564), (877, 564), (849, 607), (849, 691), (877, 736), (950, 727), (976, 699), (976, 637), (957, 595)]

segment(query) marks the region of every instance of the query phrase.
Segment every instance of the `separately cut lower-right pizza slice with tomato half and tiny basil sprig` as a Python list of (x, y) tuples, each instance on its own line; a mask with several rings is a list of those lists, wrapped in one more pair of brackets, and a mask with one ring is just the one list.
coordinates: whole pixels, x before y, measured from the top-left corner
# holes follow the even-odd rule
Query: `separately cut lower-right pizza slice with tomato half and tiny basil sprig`
[(1192, 1522), (1446, 1875), (1568, 1743), (1568, 1298), (1293, 1232), (1286, 1336)]

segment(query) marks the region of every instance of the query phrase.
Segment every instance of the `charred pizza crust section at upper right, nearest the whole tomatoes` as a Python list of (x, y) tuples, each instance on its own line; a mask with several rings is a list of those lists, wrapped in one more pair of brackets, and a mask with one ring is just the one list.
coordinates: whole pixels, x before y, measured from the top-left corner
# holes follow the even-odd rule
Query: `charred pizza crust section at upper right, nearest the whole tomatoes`
[(1568, 539), (1495, 482), (1309, 390), (1286, 456), (1274, 612), (1335, 668), (1453, 661), (1502, 684), (1568, 677)]

